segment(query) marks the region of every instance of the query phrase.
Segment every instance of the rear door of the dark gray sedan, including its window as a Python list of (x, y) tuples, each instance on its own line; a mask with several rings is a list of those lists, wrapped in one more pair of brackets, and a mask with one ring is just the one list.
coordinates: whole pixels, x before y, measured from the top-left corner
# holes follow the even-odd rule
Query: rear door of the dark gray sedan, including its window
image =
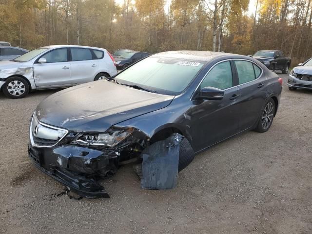
[(262, 76), (262, 69), (248, 60), (234, 60), (238, 76), (239, 98), (239, 130), (252, 127), (257, 121), (263, 102), (267, 80)]

